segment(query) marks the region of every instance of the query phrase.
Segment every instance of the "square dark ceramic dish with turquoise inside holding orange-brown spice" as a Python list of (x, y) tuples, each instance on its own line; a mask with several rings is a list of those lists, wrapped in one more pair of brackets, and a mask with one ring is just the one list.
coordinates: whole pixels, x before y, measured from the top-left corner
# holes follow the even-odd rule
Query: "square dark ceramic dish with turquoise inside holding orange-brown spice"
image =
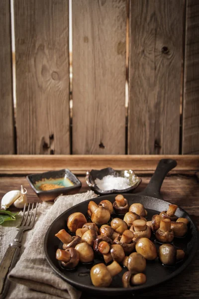
[[(69, 169), (30, 174), (26, 178), (39, 199), (43, 201), (54, 200), (60, 194), (78, 193), (82, 187), (81, 181)], [(60, 188), (43, 191), (40, 189), (42, 184), (56, 184), (60, 185)]]

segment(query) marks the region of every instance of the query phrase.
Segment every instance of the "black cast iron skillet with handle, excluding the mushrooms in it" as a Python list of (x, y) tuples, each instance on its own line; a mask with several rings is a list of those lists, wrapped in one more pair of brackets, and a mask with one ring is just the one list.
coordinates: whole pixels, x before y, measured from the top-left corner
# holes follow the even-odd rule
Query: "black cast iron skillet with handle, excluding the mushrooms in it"
[[(151, 220), (152, 215), (159, 214), (160, 212), (167, 210), (169, 206), (169, 202), (162, 200), (162, 196), (160, 195), (160, 188), (162, 182), (168, 173), (169, 170), (174, 168), (177, 165), (177, 162), (172, 159), (162, 159), (160, 160), (155, 173), (153, 174), (148, 186), (146, 189), (137, 194), (124, 194), (124, 197), (128, 200), (129, 205), (133, 202), (139, 202), (144, 205), (144, 207), (148, 211), (147, 219)], [(172, 192), (172, 190), (171, 190)], [(107, 199), (111, 202), (114, 201), (114, 194), (100, 196), (98, 198), (92, 199), (98, 204), (101, 200)], [(173, 241), (174, 246), (178, 249), (184, 249), (186, 252), (186, 258), (183, 262), (179, 262), (174, 267), (167, 267), (163, 266), (158, 258), (155, 261), (147, 261), (146, 267), (146, 277), (147, 282), (144, 285), (131, 287), (131, 288), (122, 288), (121, 277), (127, 269), (123, 269), (122, 272), (113, 278), (113, 281), (109, 288), (97, 288), (92, 285), (90, 279), (90, 269), (93, 267), (94, 264), (102, 263), (102, 259), (96, 258), (94, 263), (92, 264), (79, 264), (77, 269), (75, 270), (65, 270), (62, 269), (55, 259), (55, 253), (57, 248), (61, 248), (61, 242), (58, 238), (54, 235), (62, 228), (67, 230), (67, 219), (68, 216), (75, 212), (82, 212), (83, 214), (87, 215), (87, 207), (88, 207), (89, 200), (77, 204), (70, 208), (69, 210), (62, 213), (49, 227), (44, 241), (44, 250), (46, 254), (46, 258), (52, 269), (65, 281), (69, 284), (73, 285), (77, 289), (89, 291), (89, 293), (96, 293), (108, 296), (119, 296), (124, 293), (128, 292), (136, 292), (138, 290), (144, 290), (149, 287), (154, 287), (162, 282), (165, 282), (180, 272), (182, 272), (191, 262), (193, 259), (197, 247), (198, 247), (198, 240), (199, 240), (199, 232), (197, 226), (193, 223), (190, 215), (181, 208), (178, 208), (176, 211), (176, 215), (178, 217), (185, 217), (190, 220), (188, 234), (184, 238), (175, 238)], [(112, 218), (118, 217), (117, 215), (112, 215)], [(123, 219), (123, 217), (122, 217)], [(159, 248), (161, 244), (154, 242)]]

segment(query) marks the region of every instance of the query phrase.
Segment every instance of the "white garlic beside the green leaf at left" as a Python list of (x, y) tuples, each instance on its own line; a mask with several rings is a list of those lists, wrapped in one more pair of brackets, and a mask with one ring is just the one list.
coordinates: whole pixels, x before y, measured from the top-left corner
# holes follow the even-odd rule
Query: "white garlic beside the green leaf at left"
[(12, 190), (7, 192), (1, 199), (1, 209), (6, 210), (11, 204), (16, 208), (23, 208), (24, 204), (27, 205), (27, 190), (21, 185), (21, 191)]

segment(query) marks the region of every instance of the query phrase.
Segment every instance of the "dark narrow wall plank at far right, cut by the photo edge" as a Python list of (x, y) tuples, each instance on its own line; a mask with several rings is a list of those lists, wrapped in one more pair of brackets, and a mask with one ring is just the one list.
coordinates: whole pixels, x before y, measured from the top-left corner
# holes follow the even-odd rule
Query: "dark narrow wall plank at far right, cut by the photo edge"
[(187, 0), (183, 110), (184, 154), (199, 153), (199, 1)]

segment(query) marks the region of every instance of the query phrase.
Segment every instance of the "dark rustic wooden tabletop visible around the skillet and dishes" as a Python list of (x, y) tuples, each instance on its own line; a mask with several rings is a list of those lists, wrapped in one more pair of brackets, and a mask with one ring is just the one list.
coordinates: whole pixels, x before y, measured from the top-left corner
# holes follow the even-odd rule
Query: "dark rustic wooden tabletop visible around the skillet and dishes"
[[(82, 181), (81, 192), (88, 190), (85, 176), (78, 176)], [(142, 175), (142, 183), (136, 189), (136, 192), (143, 190), (151, 175)], [(28, 200), (38, 201), (37, 196), (29, 186), (25, 176), (8, 176), (3, 175), (0, 177), (0, 198), (9, 190), (18, 189), (23, 185), (28, 190)], [(174, 204), (181, 206), (185, 209), (196, 222), (199, 227), (199, 178), (196, 174), (171, 174), (168, 175), (162, 185), (161, 192), (165, 200), (171, 201)], [(199, 251), (198, 251), (199, 253)], [(147, 290), (143, 293), (133, 294), (126, 298), (199, 298), (199, 254), (195, 256), (192, 263), (188, 268), (175, 277), (154, 289)], [(97, 295), (83, 293), (81, 299), (94, 299), (98, 298)], [(99, 296), (101, 298), (101, 296)], [(106, 297), (103, 296), (105, 299)], [(114, 297), (115, 298), (115, 297)]]

